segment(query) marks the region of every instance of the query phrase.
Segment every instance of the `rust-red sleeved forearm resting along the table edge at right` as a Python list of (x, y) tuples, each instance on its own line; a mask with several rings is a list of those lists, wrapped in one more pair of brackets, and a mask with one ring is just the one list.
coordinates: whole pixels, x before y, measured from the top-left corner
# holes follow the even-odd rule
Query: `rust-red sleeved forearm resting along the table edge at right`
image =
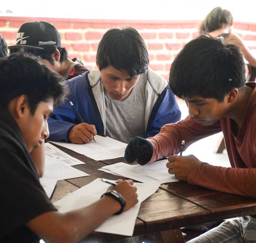
[(256, 168), (226, 168), (207, 163), (195, 165), (188, 182), (212, 190), (256, 198)]

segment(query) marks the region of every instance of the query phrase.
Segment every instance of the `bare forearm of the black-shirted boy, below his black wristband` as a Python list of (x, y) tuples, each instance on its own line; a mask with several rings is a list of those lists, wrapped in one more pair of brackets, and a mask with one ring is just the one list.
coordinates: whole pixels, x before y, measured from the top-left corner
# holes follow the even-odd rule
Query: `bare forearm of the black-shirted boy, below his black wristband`
[(120, 209), (115, 199), (105, 196), (88, 207), (68, 213), (44, 213), (27, 226), (46, 242), (73, 243), (85, 238)]

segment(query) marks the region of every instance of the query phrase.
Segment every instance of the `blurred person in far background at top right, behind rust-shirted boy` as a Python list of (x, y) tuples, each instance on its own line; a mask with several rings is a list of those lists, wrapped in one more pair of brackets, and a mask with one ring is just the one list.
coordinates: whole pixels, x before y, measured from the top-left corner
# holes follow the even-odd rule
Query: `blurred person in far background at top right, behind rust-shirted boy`
[(247, 62), (256, 67), (256, 57), (245, 45), (243, 39), (235, 33), (232, 33), (233, 17), (230, 11), (216, 7), (202, 21), (200, 34), (209, 34), (210, 36), (222, 36), (228, 43), (238, 45), (241, 48)]

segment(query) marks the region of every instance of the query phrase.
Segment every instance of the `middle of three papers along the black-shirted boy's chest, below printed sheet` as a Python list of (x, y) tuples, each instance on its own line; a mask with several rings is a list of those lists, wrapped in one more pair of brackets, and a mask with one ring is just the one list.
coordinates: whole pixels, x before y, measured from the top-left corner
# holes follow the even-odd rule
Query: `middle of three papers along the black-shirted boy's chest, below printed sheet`
[(89, 176), (89, 174), (77, 170), (65, 163), (46, 161), (45, 173), (43, 178), (65, 180), (77, 177)]

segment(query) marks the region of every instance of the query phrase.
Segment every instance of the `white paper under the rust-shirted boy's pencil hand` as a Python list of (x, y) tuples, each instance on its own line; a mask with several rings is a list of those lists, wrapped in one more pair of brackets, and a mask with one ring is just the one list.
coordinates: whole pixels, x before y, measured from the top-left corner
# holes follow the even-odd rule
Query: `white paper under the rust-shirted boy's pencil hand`
[(123, 162), (103, 166), (103, 169), (107, 173), (117, 174), (123, 177), (127, 177), (136, 181), (150, 182), (160, 181), (161, 183), (168, 183), (178, 181), (174, 175), (168, 173), (166, 163), (168, 160), (155, 161), (146, 165), (130, 165)]

